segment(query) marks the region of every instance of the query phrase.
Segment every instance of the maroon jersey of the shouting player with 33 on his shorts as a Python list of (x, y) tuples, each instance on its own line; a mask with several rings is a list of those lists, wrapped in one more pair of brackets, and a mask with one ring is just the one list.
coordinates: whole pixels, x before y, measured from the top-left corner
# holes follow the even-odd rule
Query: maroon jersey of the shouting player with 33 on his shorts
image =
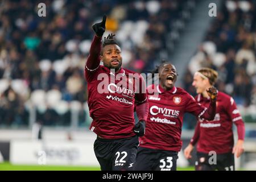
[(184, 113), (213, 118), (215, 102), (212, 102), (210, 109), (207, 109), (181, 88), (173, 87), (167, 91), (160, 85), (152, 85), (152, 87), (157, 90), (158, 96), (148, 93), (149, 112), (146, 133), (141, 137), (139, 146), (156, 150), (180, 151)]

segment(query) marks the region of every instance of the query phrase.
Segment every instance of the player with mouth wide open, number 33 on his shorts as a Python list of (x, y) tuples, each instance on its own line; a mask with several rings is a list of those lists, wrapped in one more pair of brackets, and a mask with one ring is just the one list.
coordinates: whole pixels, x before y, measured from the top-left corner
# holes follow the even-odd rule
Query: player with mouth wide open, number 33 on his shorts
[[(146, 133), (141, 137), (135, 170), (176, 170), (177, 154), (181, 149), (181, 127), (185, 112), (212, 120), (216, 110), (217, 89), (207, 90), (208, 107), (198, 104), (181, 88), (176, 88), (177, 72), (174, 65), (162, 63), (153, 73), (159, 73), (159, 85), (148, 86), (149, 112)], [(151, 93), (151, 90), (155, 90)]]

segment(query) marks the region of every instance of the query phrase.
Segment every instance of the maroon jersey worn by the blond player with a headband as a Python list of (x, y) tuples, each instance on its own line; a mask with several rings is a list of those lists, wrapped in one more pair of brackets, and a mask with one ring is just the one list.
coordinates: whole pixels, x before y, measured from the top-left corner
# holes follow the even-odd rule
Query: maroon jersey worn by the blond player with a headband
[[(201, 105), (208, 106), (209, 98), (201, 94), (195, 97)], [(232, 152), (234, 145), (233, 123), (237, 126), (238, 139), (244, 139), (245, 126), (237, 109), (236, 102), (225, 93), (218, 92), (216, 103), (216, 115), (213, 121), (199, 119), (191, 144), (197, 142), (197, 151), (209, 153), (216, 151), (217, 154)]]

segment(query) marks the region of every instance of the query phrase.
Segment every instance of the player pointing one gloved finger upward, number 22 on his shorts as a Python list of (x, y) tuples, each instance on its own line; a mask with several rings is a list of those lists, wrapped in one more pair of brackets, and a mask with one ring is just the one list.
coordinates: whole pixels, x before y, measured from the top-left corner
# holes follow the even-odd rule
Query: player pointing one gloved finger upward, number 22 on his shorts
[[(114, 35), (105, 38), (101, 46), (105, 23), (106, 15), (102, 22), (92, 26), (96, 35), (85, 64), (88, 105), (93, 118), (90, 130), (97, 134), (94, 152), (102, 170), (132, 170), (138, 150), (138, 137), (144, 134), (148, 114), (146, 84), (141, 75), (130, 78), (134, 72), (121, 67), (121, 48), (113, 39)], [(100, 65), (100, 61), (103, 65)], [(108, 79), (102, 81), (104, 76)], [(135, 85), (136, 79), (140, 85)], [(118, 80), (122, 80), (121, 85)], [(105, 85), (107, 92), (102, 92), (102, 85)], [(141, 86), (140, 92), (135, 90), (138, 86)], [(134, 102), (137, 103), (136, 112), (139, 118), (136, 125)]]

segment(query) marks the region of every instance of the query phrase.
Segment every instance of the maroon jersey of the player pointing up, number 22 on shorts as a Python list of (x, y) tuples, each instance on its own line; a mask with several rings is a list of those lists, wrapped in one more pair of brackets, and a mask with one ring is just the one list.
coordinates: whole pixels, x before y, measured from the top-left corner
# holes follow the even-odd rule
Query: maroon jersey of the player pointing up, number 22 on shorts
[[(90, 117), (93, 118), (90, 130), (106, 139), (133, 137), (134, 102), (147, 102), (146, 92), (137, 93), (135, 85), (138, 79), (139, 89), (144, 86), (146, 90), (143, 77), (137, 73), (138, 77), (130, 78), (135, 72), (123, 68), (115, 74), (110, 72), (109, 68), (100, 65), (100, 50), (101, 38), (94, 36), (85, 65), (88, 105)], [(123, 84), (120, 85), (121, 80)], [(147, 110), (148, 107), (138, 115), (140, 120), (146, 120)]]

